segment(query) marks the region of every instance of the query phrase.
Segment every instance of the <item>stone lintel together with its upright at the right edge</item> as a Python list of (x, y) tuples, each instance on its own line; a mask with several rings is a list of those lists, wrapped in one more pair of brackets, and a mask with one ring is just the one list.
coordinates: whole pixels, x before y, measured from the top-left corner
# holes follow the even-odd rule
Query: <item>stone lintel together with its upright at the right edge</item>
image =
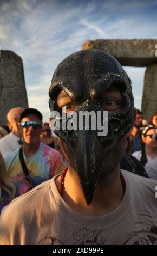
[(149, 120), (157, 112), (157, 39), (96, 39), (82, 45), (82, 50), (94, 48), (108, 52), (123, 66), (147, 66), (142, 112)]

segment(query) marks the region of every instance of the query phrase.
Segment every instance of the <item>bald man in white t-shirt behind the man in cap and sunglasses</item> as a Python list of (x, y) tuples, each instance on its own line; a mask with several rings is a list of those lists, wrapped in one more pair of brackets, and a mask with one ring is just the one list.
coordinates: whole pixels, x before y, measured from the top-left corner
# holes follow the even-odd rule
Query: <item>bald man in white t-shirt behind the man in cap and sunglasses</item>
[(24, 111), (22, 107), (11, 108), (7, 114), (7, 120), (11, 133), (0, 140), (0, 151), (3, 157), (21, 147), (22, 141), (19, 134), (19, 117)]

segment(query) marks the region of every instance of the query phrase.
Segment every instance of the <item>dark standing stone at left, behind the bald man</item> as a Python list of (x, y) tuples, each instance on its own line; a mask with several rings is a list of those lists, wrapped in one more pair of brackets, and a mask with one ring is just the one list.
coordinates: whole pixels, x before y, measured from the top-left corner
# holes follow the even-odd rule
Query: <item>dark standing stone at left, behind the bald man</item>
[(7, 123), (6, 115), (14, 107), (28, 108), (23, 63), (14, 52), (1, 50), (0, 125)]

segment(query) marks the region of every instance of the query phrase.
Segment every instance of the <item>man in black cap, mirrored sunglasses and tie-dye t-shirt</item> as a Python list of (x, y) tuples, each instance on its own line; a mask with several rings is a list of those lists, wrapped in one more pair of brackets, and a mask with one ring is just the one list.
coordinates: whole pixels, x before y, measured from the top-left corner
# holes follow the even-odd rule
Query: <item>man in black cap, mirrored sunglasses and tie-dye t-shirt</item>
[[(40, 142), (42, 114), (34, 108), (25, 109), (20, 117), (23, 147), (5, 157), (8, 173), (17, 179), (30, 177), (32, 187), (52, 178), (64, 169), (63, 157), (55, 150)], [(22, 156), (21, 156), (22, 154)], [(23, 160), (21, 160), (23, 159)], [(27, 171), (25, 171), (25, 166)], [(25, 174), (27, 172), (27, 174)], [(36, 177), (32, 179), (31, 177)]]

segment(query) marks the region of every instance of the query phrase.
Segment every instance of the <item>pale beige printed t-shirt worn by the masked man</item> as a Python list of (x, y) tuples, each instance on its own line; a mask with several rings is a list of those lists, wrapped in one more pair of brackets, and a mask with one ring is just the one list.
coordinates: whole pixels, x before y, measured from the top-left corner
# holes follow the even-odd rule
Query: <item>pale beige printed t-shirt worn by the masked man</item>
[(67, 205), (56, 176), (2, 210), (0, 245), (157, 245), (157, 182), (122, 170), (126, 191), (119, 206), (87, 216)]

